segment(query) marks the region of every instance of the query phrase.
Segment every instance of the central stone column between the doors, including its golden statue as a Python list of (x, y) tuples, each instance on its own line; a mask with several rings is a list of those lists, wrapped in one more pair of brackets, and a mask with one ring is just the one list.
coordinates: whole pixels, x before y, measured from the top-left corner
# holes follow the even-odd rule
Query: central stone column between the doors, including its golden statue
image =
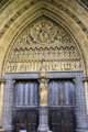
[(45, 66), (42, 66), (40, 72), (40, 124), (38, 132), (47, 132), (47, 70)]

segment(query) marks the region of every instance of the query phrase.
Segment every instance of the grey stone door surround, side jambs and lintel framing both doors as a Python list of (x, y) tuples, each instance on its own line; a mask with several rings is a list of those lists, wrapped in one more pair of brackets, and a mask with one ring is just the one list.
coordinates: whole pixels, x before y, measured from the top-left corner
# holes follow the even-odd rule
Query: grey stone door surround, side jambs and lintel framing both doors
[[(57, 72), (48, 73), (48, 79), (73, 79), (75, 82), (76, 94), (76, 124), (77, 131), (87, 129), (86, 94), (82, 82), (82, 72)], [(12, 111), (13, 111), (13, 85), (16, 79), (38, 79), (38, 73), (28, 74), (7, 74), (2, 110), (2, 127), (7, 131), (12, 131)]]

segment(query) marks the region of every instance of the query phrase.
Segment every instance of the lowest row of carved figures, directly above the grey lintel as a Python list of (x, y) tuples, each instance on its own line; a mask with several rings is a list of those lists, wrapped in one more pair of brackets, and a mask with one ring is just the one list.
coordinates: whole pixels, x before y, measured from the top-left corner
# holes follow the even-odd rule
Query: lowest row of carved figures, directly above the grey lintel
[[(81, 62), (45, 62), (47, 70), (75, 70), (81, 69)], [(8, 63), (7, 72), (38, 72), (42, 66), (41, 62), (32, 63)]]

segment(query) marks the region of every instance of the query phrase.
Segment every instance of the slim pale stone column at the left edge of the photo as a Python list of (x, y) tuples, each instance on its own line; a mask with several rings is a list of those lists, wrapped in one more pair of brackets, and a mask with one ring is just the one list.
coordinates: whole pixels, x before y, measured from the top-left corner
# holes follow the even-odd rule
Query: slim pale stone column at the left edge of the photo
[(1, 116), (2, 116), (2, 105), (3, 105), (3, 88), (4, 88), (4, 78), (0, 78), (0, 132), (3, 132), (4, 130), (1, 127)]

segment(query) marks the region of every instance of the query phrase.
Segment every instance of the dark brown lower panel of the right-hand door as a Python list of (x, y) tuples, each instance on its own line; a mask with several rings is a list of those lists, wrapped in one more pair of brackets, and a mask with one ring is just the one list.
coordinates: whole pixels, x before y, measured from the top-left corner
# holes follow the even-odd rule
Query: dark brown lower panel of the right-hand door
[(72, 108), (51, 108), (48, 110), (48, 124), (53, 132), (74, 132), (75, 116)]

